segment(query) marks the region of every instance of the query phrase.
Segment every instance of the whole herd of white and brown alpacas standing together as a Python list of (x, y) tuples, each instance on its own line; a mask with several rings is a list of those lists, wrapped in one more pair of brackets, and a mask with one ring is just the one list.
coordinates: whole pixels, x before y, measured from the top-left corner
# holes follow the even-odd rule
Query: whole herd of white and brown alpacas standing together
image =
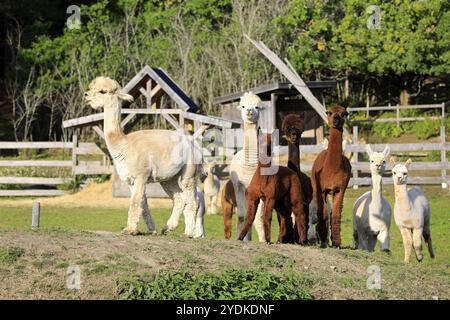
[[(345, 108), (334, 106), (327, 112), (328, 147), (317, 155), (310, 179), (300, 169), (303, 117), (290, 114), (283, 119), (288, 163), (287, 167), (279, 166), (272, 162), (272, 135), (261, 134), (258, 127), (262, 101), (252, 92), (244, 94), (239, 103), (244, 128), (243, 149), (232, 158), (230, 179), (220, 191), (215, 163), (202, 164), (199, 144), (184, 130), (142, 130), (127, 135), (123, 132), (121, 106), (123, 101), (130, 102), (133, 98), (124, 93), (115, 80), (94, 79), (85, 99), (92, 108), (104, 109), (106, 145), (119, 178), (131, 191), (124, 233), (137, 234), (141, 216), (149, 232), (156, 232), (145, 185), (159, 182), (173, 201), (163, 233), (174, 230), (184, 214), (185, 235), (203, 238), (205, 213), (217, 214), (220, 194), (226, 239), (231, 238), (232, 216), (237, 209), (237, 238), (250, 240), (254, 224), (259, 241), (270, 243), (272, 211), (275, 210), (278, 242), (306, 245), (318, 238), (320, 246), (327, 247), (330, 229), (331, 246), (341, 246), (342, 208), (351, 175), (350, 161), (343, 154), (343, 131), (348, 116)], [(381, 250), (389, 252), (391, 206), (382, 196), (382, 177), (390, 149), (386, 146), (382, 152), (375, 152), (367, 145), (366, 151), (372, 190), (361, 195), (353, 207), (354, 247), (373, 251), (378, 240)], [(411, 160), (399, 164), (391, 157), (390, 162), (395, 192), (394, 221), (403, 238), (404, 261), (410, 261), (411, 247), (417, 260), (423, 259), (422, 237), (434, 258), (429, 202), (420, 188), (407, 188)], [(207, 175), (203, 190), (198, 186), (202, 172)]]

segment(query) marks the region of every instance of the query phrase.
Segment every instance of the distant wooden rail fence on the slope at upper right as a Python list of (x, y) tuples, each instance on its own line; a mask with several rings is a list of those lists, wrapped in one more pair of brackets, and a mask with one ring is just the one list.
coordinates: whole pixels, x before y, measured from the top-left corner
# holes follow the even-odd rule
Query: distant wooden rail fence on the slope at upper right
[[(411, 109), (440, 109), (440, 116), (432, 116), (432, 117), (401, 117), (401, 110), (411, 110)], [(352, 119), (351, 121), (356, 122), (396, 122), (397, 128), (400, 127), (400, 122), (402, 121), (423, 121), (426, 119), (437, 120), (437, 119), (445, 119), (445, 103), (441, 104), (425, 104), (425, 105), (413, 105), (413, 106), (379, 106), (379, 107), (363, 107), (363, 108), (347, 108), (348, 112), (366, 112), (366, 119)], [(370, 118), (371, 111), (395, 111), (395, 118)]]

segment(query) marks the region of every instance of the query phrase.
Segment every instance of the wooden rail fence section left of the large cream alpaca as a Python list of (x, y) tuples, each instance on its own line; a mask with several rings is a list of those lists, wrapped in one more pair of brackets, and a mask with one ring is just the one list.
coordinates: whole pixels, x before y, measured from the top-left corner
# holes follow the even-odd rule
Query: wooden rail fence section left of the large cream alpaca
[[(0, 167), (62, 167), (75, 174), (110, 174), (109, 159), (95, 143), (79, 143), (74, 135), (72, 142), (0, 142), (0, 149), (70, 149), (70, 160), (0, 160)], [(79, 161), (79, 155), (101, 155), (101, 161)], [(67, 181), (67, 177), (15, 177), (0, 176), (0, 184), (55, 187)], [(55, 196), (64, 194), (58, 189), (1, 190), (0, 196)]]

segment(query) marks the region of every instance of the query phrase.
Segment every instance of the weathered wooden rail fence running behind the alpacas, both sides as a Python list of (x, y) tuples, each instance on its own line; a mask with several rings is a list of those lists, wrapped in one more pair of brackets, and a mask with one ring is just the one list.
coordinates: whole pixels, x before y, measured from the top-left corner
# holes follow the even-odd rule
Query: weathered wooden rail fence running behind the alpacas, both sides
[[(410, 153), (418, 151), (439, 151), (440, 161), (415, 161), (411, 164), (411, 171), (423, 171), (424, 175), (410, 176), (410, 184), (436, 184), (447, 187), (450, 184), (450, 177), (447, 176), (447, 170), (450, 170), (450, 162), (447, 161), (446, 152), (450, 151), (450, 142), (446, 141), (445, 127), (440, 129), (440, 141), (438, 143), (407, 143), (407, 144), (389, 144), (391, 153)], [(371, 184), (371, 178), (368, 174), (363, 176), (363, 172), (369, 173), (369, 162), (358, 160), (359, 153), (366, 152), (364, 144), (358, 144), (358, 129), (353, 127), (353, 140), (355, 143), (347, 144), (344, 152), (352, 152), (352, 178), (351, 186), (364, 186)], [(386, 144), (371, 144), (372, 149), (381, 151)], [(77, 136), (73, 137), (72, 142), (0, 142), (0, 149), (70, 149), (70, 160), (0, 160), (0, 167), (67, 167), (70, 168), (72, 175), (76, 174), (112, 174), (113, 166), (109, 163), (108, 157), (95, 143), (79, 143)], [(317, 154), (323, 150), (321, 145), (302, 145), (300, 152), (303, 154)], [(287, 147), (279, 147), (278, 152), (284, 154)], [(101, 155), (102, 161), (80, 161), (79, 155)], [(311, 171), (312, 163), (302, 163), (302, 170)], [(389, 167), (389, 166), (388, 166)], [(427, 171), (440, 171), (440, 175), (430, 176)], [(224, 172), (227, 172), (225, 169)], [(67, 178), (45, 178), (45, 177), (13, 177), (0, 176), (0, 184), (17, 185), (45, 185), (55, 187), (65, 183)], [(392, 184), (392, 178), (383, 178), (386, 184)], [(62, 195), (65, 191), (58, 189), (23, 189), (23, 190), (0, 190), (0, 196), (55, 196)], [(151, 192), (148, 194), (152, 196)], [(161, 196), (161, 195), (159, 195)]]

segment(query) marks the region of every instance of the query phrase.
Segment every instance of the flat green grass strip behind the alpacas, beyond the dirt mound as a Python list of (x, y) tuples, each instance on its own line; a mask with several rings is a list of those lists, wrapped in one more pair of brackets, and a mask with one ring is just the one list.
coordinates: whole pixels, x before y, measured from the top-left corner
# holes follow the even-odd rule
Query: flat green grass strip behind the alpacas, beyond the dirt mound
[[(436, 259), (429, 259), (427, 249), (424, 247), (425, 259), (422, 265), (429, 264), (448, 264), (450, 261), (450, 246), (448, 240), (450, 236), (450, 195), (448, 190), (442, 190), (440, 187), (423, 187), (430, 201), (431, 207), (431, 236), (436, 253)], [(358, 190), (348, 189), (342, 214), (341, 237), (342, 245), (350, 247), (353, 245), (352, 230), (352, 207), (355, 200), (369, 188), (360, 188)], [(385, 186), (383, 195), (388, 199), (393, 207), (393, 187)], [(151, 199), (149, 200), (151, 206)], [(5, 229), (29, 229), (31, 227), (31, 207), (16, 206), (2, 207), (0, 200), (0, 228)], [(158, 231), (164, 226), (170, 216), (169, 209), (152, 209), (152, 215), (155, 219)], [(235, 219), (236, 217), (233, 217)], [(235, 221), (235, 220), (234, 220)], [(112, 231), (120, 232), (127, 222), (126, 208), (64, 208), (54, 206), (41, 207), (42, 229), (53, 230), (91, 230), (91, 231)], [(144, 222), (140, 221), (139, 230), (145, 233)], [(233, 228), (232, 239), (235, 239), (235, 228)], [(184, 232), (183, 218), (180, 219), (178, 228), (173, 232), (175, 236), (182, 236)], [(221, 215), (205, 216), (205, 232), (207, 238), (223, 239), (223, 223)], [(272, 221), (272, 241), (276, 241), (278, 235), (278, 223), (274, 215)], [(256, 233), (253, 230), (253, 240), (256, 241)], [(378, 250), (379, 244), (377, 244)], [(403, 244), (400, 231), (392, 218), (391, 224), (391, 258), (393, 261), (403, 261)], [(378, 253), (376, 253), (378, 254)], [(278, 262), (285, 263), (283, 257), (279, 257)], [(412, 257), (413, 258), (413, 257)], [(188, 257), (186, 258), (187, 260)], [(263, 261), (264, 259), (261, 259)], [(414, 261), (414, 259), (412, 260)], [(255, 261), (258, 262), (258, 261)], [(278, 263), (274, 262), (274, 263)]]

